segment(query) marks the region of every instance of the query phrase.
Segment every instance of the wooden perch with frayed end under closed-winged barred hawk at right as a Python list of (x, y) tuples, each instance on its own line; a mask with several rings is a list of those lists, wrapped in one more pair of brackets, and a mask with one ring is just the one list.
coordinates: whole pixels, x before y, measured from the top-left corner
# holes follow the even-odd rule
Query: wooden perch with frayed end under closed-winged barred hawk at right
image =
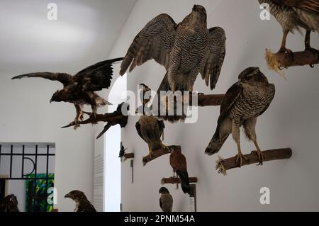
[[(292, 155), (290, 148), (271, 149), (263, 151), (262, 153), (264, 154), (264, 162), (276, 159), (289, 159)], [(245, 154), (245, 157), (247, 157), (249, 162), (247, 162), (245, 159), (242, 159), (242, 166), (259, 162), (257, 154), (254, 152)], [(216, 161), (216, 169), (218, 170), (218, 173), (224, 175), (226, 175), (226, 171), (228, 171), (228, 169), (234, 169), (238, 167), (240, 166), (236, 163), (236, 156), (229, 159), (222, 159), (218, 157), (218, 160)]]

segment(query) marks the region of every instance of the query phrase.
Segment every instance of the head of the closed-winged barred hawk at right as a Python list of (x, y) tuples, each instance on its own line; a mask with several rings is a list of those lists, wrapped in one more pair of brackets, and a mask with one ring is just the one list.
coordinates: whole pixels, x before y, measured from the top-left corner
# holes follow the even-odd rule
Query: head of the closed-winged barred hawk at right
[(238, 80), (242, 84), (264, 84), (268, 83), (267, 77), (260, 72), (259, 67), (248, 67), (240, 73)]

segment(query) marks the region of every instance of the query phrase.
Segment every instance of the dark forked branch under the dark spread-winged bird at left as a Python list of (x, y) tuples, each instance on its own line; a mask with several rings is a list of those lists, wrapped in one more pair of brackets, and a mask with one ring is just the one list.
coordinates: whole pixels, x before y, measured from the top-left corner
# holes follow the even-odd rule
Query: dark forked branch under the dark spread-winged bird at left
[[(113, 113), (106, 113), (106, 114), (90, 114), (90, 117), (82, 122), (79, 122), (80, 125), (84, 124), (96, 124), (99, 122), (106, 122), (106, 125), (104, 126), (103, 131), (96, 137), (96, 139), (99, 139), (111, 126), (113, 125), (120, 125), (121, 128), (124, 128), (125, 125), (128, 123), (128, 114), (123, 115), (122, 113), (122, 106), (123, 104), (127, 103), (121, 103), (118, 105), (118, 108)], [(128, 107), (127, 107), (128, 108)], [(69, 125), (63, 126), (62, 128), (68, 128), (75, 125), (75, 123), (69, 123)]]

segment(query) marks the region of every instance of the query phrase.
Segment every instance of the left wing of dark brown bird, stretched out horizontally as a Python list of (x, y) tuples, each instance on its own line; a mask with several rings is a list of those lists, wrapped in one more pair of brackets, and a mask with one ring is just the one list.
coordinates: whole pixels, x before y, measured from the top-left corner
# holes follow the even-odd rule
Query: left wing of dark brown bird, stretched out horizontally
[(22, 78), (43, 78), (50, 79), (52, 81), (60, 81), (63, 86), (67, 86), (72, 82), (72, 75), (66, 73), (51, 73), (51, 72), (35, 72), (30, 74), (21, 74), (12, 79)]

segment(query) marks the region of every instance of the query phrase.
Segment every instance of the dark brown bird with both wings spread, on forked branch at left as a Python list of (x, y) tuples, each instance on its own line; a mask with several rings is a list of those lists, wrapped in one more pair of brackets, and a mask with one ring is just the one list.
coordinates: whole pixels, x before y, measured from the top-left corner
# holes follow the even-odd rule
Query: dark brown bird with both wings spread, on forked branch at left
[(74, 103), (77, 110), (77, 115), (74, 119), (74, 128), (78, 128), (79, 122), (83, 120), (82, 109), (85, 104), (91, 105), (92, 113), (94, 115), (96, 114), (98, 107), (111, 104), (97, 95), (94, 91), (100, 91), (104, 88), (108, 89), (113, 75), (112, 64), (120, 60), (123, 60), (123, 58), (99, 62), (86, 67), (74, 76), (66, 73), (36, 72), (18, 75), (12, 79), (39, 77), (52, 81), (60, 81), (63, 84), (63, 89), (56, 91), (50, 102), (64, 101)]

